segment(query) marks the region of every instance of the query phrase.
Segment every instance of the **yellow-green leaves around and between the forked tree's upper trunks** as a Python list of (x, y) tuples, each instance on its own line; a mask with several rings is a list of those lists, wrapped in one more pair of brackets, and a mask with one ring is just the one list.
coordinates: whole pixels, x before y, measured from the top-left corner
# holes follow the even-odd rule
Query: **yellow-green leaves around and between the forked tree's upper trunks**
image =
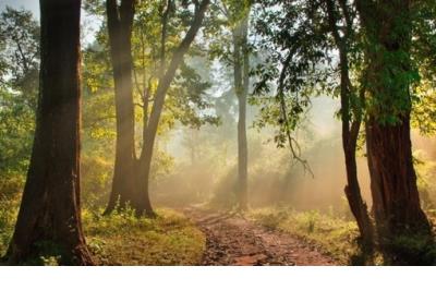
[[(150, 108), (153, 99), (144, 102), (144, 95), (153, 96), (157, 88), (158, 78), (162, 68), (168, 63), (173, 49), (179, 45), (182, 33), (189, 27), (186, 21), (192, 16), (192, 3), (190, 1), (169, 1), (171, 7), (166, 8), (165, 1), (140, 1), (136, 5), (132, 35), (132, 56), (134, 64), (134, 99), (137, 105), (136, 119), (142, 120), (144, 106)], [(101, 1), (88, 1), (85, 8), (92, 13), (104, 13)], [(168, 9), (168, 12), (167, 12)], [(168, 13), (166, 37), (162, 43), (162, 17)], [(187, 17), (187, 19), (186, 19)], [(162, 45), (165, 46), (162, 50)], [(112, 98), (113, 81), (111, 80), (111, 65), (109, 60), (109, 47), (107, 27), (101, 25), (96, 43), (88, 47), (85, 60), (88, 60), (85, 69), (85, 82), (93, 96), (101, 99)], [(173, 84), (168, 92), (162, 121), (159, 133), (174, 126), (177, 122), (182, 125), (199, 128), (206, 123), (217, 123), (218, 118), (207, 113), (211, 107), (207, 90), (210, 85), (197, 73), (197, 70), (189, 63), (193, 58), (202, 58), (198, 47), (190, 51), (187, 61), (181, 65)], [(93, 126), (98, 128), (100, 120), (113, 122), (113, 102), (104, 101), (99, 112), (93, 111)], [(111, 107), (110, 109), (108, 107)], [(149, 110), (146, 108), (146, 110)], [(206, 111), (206, 113), (205, 113)], [(98, 116), (98, 117), (96, 117)]]

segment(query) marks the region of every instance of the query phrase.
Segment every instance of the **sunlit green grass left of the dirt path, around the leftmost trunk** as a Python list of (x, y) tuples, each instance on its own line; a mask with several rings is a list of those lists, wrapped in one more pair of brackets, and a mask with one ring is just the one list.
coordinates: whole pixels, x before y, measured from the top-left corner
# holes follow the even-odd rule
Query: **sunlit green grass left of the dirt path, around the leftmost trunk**
[[(0, 255), (8, 250), (20, 201), (0, 201)], [(98, 265), (197, 265), (204, 234), (182, 214), (158, 208), (157, 218), (136, 218), (131, 210), (101, 216), (83, 210), (86, 242)], [(48, 245), (49, 246), (49, 245)], [(50, 251), (48, 251), (50, 252)], [(28, 264), (57, 265), (57, 256)]]

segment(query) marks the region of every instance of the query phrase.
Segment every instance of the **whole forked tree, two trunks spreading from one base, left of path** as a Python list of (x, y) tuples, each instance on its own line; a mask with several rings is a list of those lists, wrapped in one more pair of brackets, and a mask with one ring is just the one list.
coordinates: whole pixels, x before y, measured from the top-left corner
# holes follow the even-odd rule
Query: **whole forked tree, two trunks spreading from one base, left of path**
[[(130, 203), (138, 215), (146, 214), (148, 216), (154, 216), (148, 195), (148, 184), (153, 150), (160, 116), (162, 113), (166, 96), (178, 70), (180, 69), (186, 72), (186, 65), (183, 63), (184, 56), (202, 26), (203, 19), (209, 4), (208, 0), (201, 2), (182, 1), (178, 3), (183, 7), (185, 12), (193, 12), (193, 17), (191, 22), (187, 22), (189, 29), (185, 32), (182, 40), (175, 45), (174, 48), (169, 48), (167, 46), (168, 31), (171, 15), (177, 9), (177, 3), (171, 0), (160, 2), (159, 24), (161, 26), (161, 34), (160, 41), (158, 41), (160, 46), (159, 49), (157, 49), (159, 51), (157, 53), (158, 57), (152, 58), (152, 61), (157, 63), (157, 65), (155, 65), (156, 72), (150, 73), (149, 77), (146, 77), (144, 70), (142, 70), (141, 76), (146, 80), (140, 84), (141, 82), (136, 80), (140, 73), (136, 72), (136, 70), (134, 71), (135, 85), (136, 87), (141, 87), (138, 90), (143, 102), (143, 143), (138, 157), (136, 157), (135, 153), (134, 101), (132, 89), (132, 72), (134, 69), (132, 59), (132, 27), (134, 24), (135, 1), (122, 0), (120, 4), (113, 0), (108, 0), (106, 2), (109, 43), (116, 84), (118, 123), (113, 190), (110, 194), (106, 213), (113, 210), (119, 201), (122, 207), (125, 206), (126, 203)], [(149, 3), (146, 4), (149, 5)], [(147, 8), (145, 9), (147, 10)], [(153, 11), (150, 13), (153, 14)], [(185, 25), (185, 22), (186, 20), (183, 20), (183, 25)], [(147, 32), (142, 33), (145, 33), (145, 35), (147, 34)], [(143, 34), (140, 35), (141, 50), (144, 52), (143, 55), (146, 55), (145, 50), (147, 47), (144, 43), (148, 41), (148, 39), (144, 39)], [(154, 45), (149, 47), (152, 50), (155, 50)], [(172, 50), (173, 52), (167, 53), (168, 50)], [(146, 60), (143, 59), (143, 62), (144, 61)], [(146, 65), (143, 63), (141, 67), (145, 69)], [(193, 95), (197, 94), (194, 93)], [(194, 100), (194, 102), (201, 104), (199, 100)], [(179, 105), (182, 106), (186, 106), (186, 104), (187, 101), (185, 101), (184, 105), (183, 101), (179, 102)], [(150, 111), (149, 107), (152, 107)], [(122, 190), (118, 191), (117, 184), (120, 184)]]

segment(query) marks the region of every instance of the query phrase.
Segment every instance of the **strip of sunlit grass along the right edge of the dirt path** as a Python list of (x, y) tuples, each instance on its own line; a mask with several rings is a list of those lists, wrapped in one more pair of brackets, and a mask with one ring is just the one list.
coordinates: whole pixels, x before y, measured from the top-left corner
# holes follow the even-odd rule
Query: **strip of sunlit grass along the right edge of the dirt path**
[[(316, 210), (296, 212), (290, 208), (254, 209), (249, 217), (270, 229), (292, 233), (314, 245), (322, 253), (331, 256), (340, 265), (367, 264), (361, 261), (356, 243), (358, 226), (332, 215)], [(379, 264), (380, 261), (372, 262)]]

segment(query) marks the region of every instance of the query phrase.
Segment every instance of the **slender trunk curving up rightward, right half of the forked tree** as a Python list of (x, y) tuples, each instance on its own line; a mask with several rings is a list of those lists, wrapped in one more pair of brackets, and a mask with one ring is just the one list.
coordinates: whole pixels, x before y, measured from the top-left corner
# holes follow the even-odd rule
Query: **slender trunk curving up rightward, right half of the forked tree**
[(145, 140), (143, 143), (143, 149), (140, 157), (140, 169), (138, 169), (138, 177), (141, 182), (138, 182), (140, 201), (137, 208), (140, 213), (145, 213), (146, 215), (152, 215), (152, 216), (154, 215), (148, 193), (149, 174), (152, 169), (152, 158), (155, 146), (156, 133), (160, 120), (160, 114), (165, 104), (165, 97), (167, 95), (168, 88), (171, 85), (172, 80), (174, 78), (177, 70), (179, 69), (180, 64), (183, 61), (184, 55), (187, 52), (198, 29), (202, 27), (203, 19), (205, 16), (209, 3), (210, 0), (203, 0), (201, 2), (196, 1), (196, 8), (194, 12), (195, 14), (191, 27), (186, 32), (179, 47), (174, 50), (167, 70), (159, 77), (159, 84), (154, 94), (153, 108), (145, 131)]

